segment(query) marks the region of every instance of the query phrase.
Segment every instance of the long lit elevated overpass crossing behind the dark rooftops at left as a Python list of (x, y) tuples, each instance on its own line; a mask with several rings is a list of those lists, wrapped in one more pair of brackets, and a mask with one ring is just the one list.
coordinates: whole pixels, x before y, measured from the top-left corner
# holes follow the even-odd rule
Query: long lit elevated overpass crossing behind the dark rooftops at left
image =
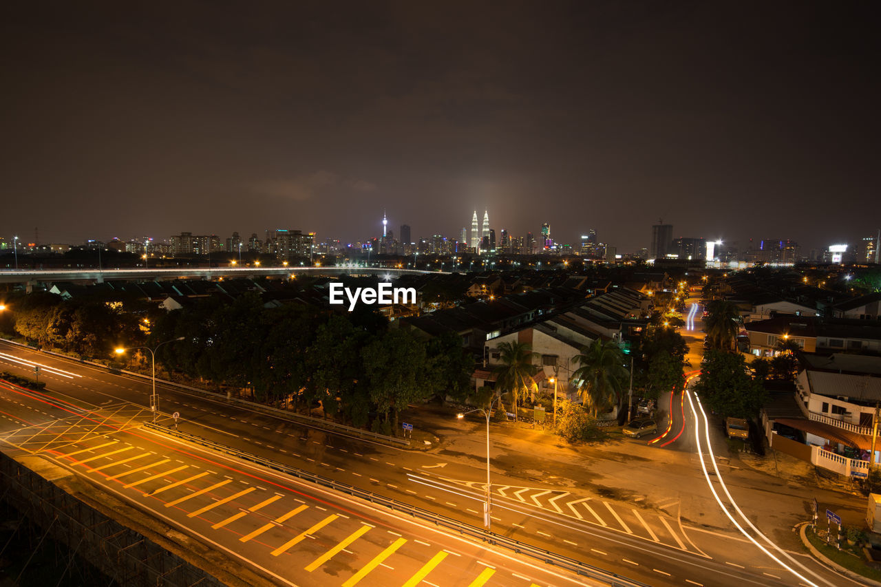
[(397, 278), (410, 273), (439, 273), (449, 275), (449, 271), (425, 271), (417, 269), (395, 269), (385, 267), (361, 267), (358, 265), (338, 265), (334, 267), (156, 267), (130, 269), (20, 269), (0, 271), (0, 283), (27, 284), (34, 286), (56, 281), (79, 281), (103, 283), (104, 281), (156, 281), (163, 279), (219, 279), (258, 277), (290, 277), (293, 275), (323, 276), (368, 276)]

